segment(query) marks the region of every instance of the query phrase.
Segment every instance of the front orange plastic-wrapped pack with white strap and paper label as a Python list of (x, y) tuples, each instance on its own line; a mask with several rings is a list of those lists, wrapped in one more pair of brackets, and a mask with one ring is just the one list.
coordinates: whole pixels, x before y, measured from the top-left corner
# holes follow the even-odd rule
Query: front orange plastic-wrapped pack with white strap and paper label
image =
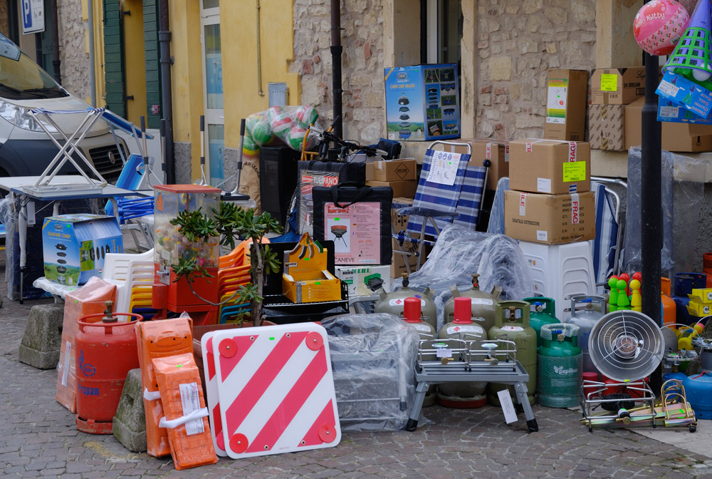
[(176, 469), (218, 462), (210, 436), (208, 410), (192, 352), (153, 361), (161, 392), (171, 455)]

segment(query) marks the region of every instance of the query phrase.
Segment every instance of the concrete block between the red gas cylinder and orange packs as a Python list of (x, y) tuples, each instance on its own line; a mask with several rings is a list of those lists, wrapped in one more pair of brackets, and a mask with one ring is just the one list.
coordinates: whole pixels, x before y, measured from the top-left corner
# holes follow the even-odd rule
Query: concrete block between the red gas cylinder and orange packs
[(127, 374), (113, 422), (114, 437), (125, 448), (132, 453), (142, 453), (147, 450), (146, 413), (143, 408), (140, 369), (132, 369)]

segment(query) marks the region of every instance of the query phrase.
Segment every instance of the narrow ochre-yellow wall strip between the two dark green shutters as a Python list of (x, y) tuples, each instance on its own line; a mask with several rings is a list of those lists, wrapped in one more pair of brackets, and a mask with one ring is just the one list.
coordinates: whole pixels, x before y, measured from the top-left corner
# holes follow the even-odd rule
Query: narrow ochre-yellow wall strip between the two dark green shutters
[(123, 0), (124, 11), (124, 66), (126, 68), (127, 120), (140, 125), (140, 117), (146, 115), (146, 61), (143, 41), (142, 0)]

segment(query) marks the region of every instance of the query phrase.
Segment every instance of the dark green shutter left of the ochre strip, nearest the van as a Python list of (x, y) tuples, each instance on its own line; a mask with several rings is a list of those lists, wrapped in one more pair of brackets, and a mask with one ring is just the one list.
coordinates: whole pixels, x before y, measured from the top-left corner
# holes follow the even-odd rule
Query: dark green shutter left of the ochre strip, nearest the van
[(126, 117), (126, 72), (120, 0), (104, 0), (104, 81), (106, 108)]

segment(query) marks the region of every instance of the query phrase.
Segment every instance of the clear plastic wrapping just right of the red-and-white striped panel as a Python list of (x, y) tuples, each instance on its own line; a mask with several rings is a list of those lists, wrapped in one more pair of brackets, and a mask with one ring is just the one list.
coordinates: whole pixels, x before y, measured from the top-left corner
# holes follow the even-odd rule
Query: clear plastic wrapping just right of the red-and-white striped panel
[(393, 314), (323, 321), (329, 337), (341, 431), (398, 431), (415, 398), (417, 330)]

